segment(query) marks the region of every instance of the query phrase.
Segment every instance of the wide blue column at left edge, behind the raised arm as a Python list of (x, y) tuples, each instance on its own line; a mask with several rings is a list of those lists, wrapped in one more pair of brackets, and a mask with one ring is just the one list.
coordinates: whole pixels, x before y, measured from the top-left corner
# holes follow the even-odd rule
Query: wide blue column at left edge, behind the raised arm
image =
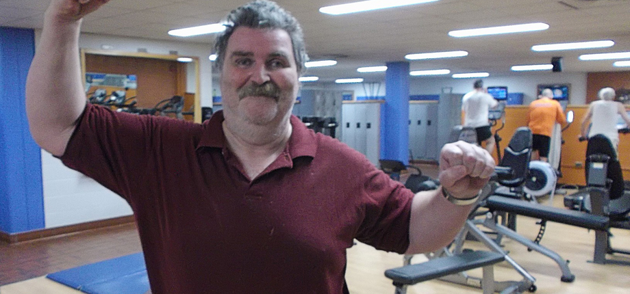
[(0, 230), (7, 233), (45, 226), (41, 153), (25, 110), (34, 53), (32, 29), (0, 27)]

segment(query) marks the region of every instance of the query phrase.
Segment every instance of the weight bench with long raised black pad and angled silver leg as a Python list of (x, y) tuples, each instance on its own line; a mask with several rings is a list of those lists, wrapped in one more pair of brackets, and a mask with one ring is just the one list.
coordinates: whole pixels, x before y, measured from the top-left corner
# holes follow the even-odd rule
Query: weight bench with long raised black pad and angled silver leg
[[(517, 215), (525, 215), (528, 217), (534, 217), (549, 222), (559, 222), (561, 224), (568, 224), (571, 226), (579, 226), (581, 228), (588, 228), (596, 230), (598, 232), (607, 231), (609, 226), (609, 218), (601, 215), (591, 215), (588, 213), (582, 213), (579, 211), (569, 211), (566, 209), (558, 209), (552, 206), (546, 206), (538, 203), (527, 202), (523, 200), (517, 200), (512, 198), (505, 198), (502, 196), (490, 196), (485, 200), (485, 206), (490, 211), (503, 211), (507, 213), (514, 213)], [(568, 262), (564, 260), (559, 254), (553, 250), (549, 250), (539, 243), (535, 243), (525, 237), (522, 237), (514, 230), (507, 228), (494, 219), (496, 213), (492, 213), (483, 222), (475, 220), (476, 224), (482, 224), (486, 228), (490, 228), (499, 234), (508, 237), (518, 243), (521, 243), (531, 250), (540, 252), (541, 254), (548, 256), (557, 263), (562, 270), (562, 282), (573, 282), (575, 275), (573, 275), (568, 268)]]

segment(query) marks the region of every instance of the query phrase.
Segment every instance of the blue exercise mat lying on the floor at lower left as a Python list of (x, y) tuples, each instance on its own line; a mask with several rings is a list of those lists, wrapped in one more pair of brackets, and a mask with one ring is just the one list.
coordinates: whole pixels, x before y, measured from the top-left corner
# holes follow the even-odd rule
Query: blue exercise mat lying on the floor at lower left
[(88, 294), (144, 294), (150, 289), (142, 252), (81, 265), (46, 277)]

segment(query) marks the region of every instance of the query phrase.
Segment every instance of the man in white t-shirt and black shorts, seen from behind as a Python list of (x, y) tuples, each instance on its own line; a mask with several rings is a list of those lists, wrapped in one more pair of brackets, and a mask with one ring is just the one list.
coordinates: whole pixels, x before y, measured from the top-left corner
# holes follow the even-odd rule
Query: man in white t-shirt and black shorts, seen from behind
[(473, 85), (475, 90), (468, 92), (462, 98), (462, 111), (464, 111), (464, 126), (475, 128), (477, 132), (477, 144), (486, 144), (486, 150), (492, 153), (494, 149), (494, 137), (490, 131), (488, 122), (488, 109), (496, 107), (499, 101), (490, 96), (483, 88), (483, 81), (478, 79)]

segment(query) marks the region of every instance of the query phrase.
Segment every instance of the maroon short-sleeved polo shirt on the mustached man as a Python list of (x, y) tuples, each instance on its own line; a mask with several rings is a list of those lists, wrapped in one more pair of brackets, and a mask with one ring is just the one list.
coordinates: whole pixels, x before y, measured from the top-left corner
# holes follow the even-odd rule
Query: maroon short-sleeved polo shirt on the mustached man
[(353, 239), (405, 252), (413, 194), (359, 152), (292, 116), (249, 181), (221, 122), (88, 104), (60, 157), (129, 202), (154, 294), (338, 294)]

